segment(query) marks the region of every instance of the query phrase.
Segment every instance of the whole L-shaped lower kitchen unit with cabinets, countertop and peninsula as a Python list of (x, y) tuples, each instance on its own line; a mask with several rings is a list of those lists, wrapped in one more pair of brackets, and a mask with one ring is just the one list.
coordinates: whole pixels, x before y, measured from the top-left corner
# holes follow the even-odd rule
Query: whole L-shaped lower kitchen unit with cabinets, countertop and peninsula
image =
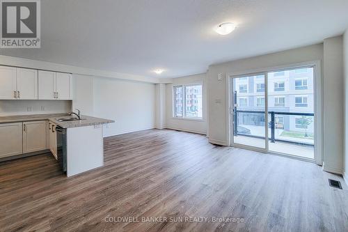
[(49, 149), (64, 173), (74, 176), (104, 166), (102, 125), (113, 122), (84, 115), (79, 119), (67, 114), (3, 116), (0, 117), (3, 142), (0, 158), (10, 160), (47, 153)]

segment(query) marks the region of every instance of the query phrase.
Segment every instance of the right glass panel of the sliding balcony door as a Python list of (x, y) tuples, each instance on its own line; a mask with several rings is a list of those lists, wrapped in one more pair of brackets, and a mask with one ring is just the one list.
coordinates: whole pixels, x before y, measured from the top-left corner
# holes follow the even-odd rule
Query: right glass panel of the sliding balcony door
[(268, 73), (269, 150), (314, 158), (314, 68)]

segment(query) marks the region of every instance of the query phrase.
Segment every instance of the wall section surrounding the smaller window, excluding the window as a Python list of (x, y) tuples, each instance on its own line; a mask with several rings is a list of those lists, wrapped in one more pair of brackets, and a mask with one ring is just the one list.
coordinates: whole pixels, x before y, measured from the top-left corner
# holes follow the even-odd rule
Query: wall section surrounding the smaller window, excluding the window
[[(205, 73), (178, 77), (172, 81), (172, 84), (166, 84), (166, 127), (174, 130), (207, 134), (207, 82)], [(195, 83), (203, 83), (203, 121), (173, 118), (173, 86)]]

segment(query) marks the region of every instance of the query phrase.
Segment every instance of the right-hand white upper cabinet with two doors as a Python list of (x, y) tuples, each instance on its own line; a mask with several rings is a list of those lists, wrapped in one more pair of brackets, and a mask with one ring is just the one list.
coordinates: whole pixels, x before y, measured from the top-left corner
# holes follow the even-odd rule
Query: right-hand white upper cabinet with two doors
[(38, 90), (39, 100), (71, 100), (72, 75), (39, 70)]

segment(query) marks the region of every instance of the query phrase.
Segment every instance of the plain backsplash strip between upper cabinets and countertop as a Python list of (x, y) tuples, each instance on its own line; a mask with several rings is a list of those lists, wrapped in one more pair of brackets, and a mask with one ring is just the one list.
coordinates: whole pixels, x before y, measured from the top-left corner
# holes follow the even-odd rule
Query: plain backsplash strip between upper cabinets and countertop
[(67, 113), (71, 100), (0, 100), (0, 116)]

